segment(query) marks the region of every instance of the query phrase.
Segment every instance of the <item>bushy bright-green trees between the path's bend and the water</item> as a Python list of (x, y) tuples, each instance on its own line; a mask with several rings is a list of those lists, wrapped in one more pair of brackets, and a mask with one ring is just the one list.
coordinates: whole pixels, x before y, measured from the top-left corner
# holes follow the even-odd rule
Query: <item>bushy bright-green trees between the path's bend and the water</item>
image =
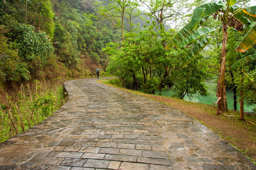
[[(187, 94), (207, 94), (204, 85), (208, 74), (203, 58), (194, 59), (187, 68), (181, 67), (182, 58), (186, 50), (167, 51), (159, 34), (155, 31), (157, 24), (153, 23), (140, 33), (125, 34), (122, 46), (119, 43), (109, 43), (104, 51), (110, 54), (108, 71), (119, 77), (122, 85), (127, 88), (146, 93), (155, 93), (175, 85), (175, 96), (183, 99)], [(170, 36), (165, 34), (163, 37)], [(168, 75), (165, 76), (165, 68)], [(164, 77), (165, 76), (165, 77)]]

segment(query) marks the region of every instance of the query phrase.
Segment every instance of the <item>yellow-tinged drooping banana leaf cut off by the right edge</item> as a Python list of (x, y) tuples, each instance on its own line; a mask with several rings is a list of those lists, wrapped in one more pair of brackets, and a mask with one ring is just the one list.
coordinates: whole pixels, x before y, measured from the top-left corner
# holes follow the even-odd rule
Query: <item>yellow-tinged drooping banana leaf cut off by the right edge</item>
[(236, 51), (245, 52), (256, 43), (256, 22), (252, 22), (250, 27), (251, 29), (248, 31), (244, 39), (239, 43)]

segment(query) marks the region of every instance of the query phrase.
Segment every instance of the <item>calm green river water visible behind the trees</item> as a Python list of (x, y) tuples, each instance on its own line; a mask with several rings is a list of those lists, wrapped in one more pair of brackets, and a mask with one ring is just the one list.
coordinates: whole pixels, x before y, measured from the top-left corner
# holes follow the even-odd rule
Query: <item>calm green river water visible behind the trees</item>
[[(210, 92), (210, 94), (208, 96), (201, 96), (200, 94), (194, 94), (193, 98), (190, 100), (189, 97), (186, 95), (184, 97), (184, 100), (213, 105), (212, 102), (217, 101), (217, 97), (216, 97), (217, 84), (209, 83), (209, 82), (206, 84), (209, 86), (208, 92)], [(155, 94), (159, 94), (159, 91), (155, 92)], [(173, 94), (174, 94), (173, 87), (162, 91), (162, 96), (171, 97)], [(227, 102), (228, 102), (228, 109), (234, 110), (233, 91), (232, 90), (230, 91), (230, 89), (227, 89), (226, 96), (227, 96)], [(252, 112), (252, 110), (255, 107), (256, 107), (255, 104), (254, 105), (244, 105), (244, 111)], [(237, 110), (239, 110), (239, 109), (240, 109), (240, 104), (237, 103)]]

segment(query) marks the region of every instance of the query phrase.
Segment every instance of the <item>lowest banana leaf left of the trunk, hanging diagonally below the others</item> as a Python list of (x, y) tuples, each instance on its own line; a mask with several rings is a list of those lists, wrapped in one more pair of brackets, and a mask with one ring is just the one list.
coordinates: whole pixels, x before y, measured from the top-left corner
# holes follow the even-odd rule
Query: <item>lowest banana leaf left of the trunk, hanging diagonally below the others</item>
[(190, 53), (187, 55), (187, 57), (183, 61), (183, 66), (187, 65), (192, 59), (195, 58), (199, 52), (201, 52), (206, 45), (209, 44), (211, 38), (207, 37), (198, 44), (190, 51)]

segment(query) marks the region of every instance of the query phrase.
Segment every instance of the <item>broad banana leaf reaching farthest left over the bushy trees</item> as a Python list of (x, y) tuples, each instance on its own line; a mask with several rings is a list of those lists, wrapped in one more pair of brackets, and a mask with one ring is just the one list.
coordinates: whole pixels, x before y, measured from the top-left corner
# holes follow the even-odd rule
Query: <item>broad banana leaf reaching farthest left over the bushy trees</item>
[(174, 38), (166, 45), (167, 49), (172, 49), (174, 46), (178, 45), (185, 38), (190, 36), (194, 29), (198, 26), (201, 21), (201, 18), (204, 14), (205, 8), (195, 8), (194, 13), (191, 19), (191, 22), (184, 26)]

